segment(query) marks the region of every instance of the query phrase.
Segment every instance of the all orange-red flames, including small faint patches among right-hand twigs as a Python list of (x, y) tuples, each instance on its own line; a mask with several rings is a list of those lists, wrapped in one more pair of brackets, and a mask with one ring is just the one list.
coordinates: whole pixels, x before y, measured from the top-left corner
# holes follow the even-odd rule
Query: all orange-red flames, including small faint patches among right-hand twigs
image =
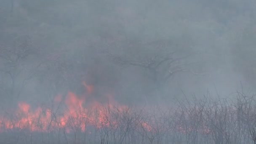
[[(130, 111), (127, 106), (118, 104), (112, 94), (106, 95), (107, 103), (99, 103), (96, 100), (88, 102), (86, 98), (93, 94), (94, 87), (85, 82), (83, 82), (83, 85), (86, 89), (84, 95), (78, 96), (73, 92), (68, 92), (67, 96), (57, 95), (53, 100), (53, 107), (51, 108), (37, 107), (33, 109), (26, 102), (19, 102), (18, 109), (12, 115), (0, 116), (0, 132), (8, 130), (50, 132), (62, 129), (70, 133), (71, 131), (85, 132), (88, 125), (96, 129), (109, 127), (116, 129), (119, 125), (127, 124), (120, 122), (120, 120), (123, 120), (123, 117), (119, 120), (111, 117), (113, 113), (114, 117), (115, 114), (122, 115), (122, 112), (125, 114), (129, 113)], [(154, 122), (154, 120), (138, 118), (134, 123), (137, 123), (136, 126), (147, 132), (156, 133), (160, 131), (156, 124), (157, 122)], [(211, 133), (207, 127), (204, 127), (202, 130), (193, 127), (185, 128), (187, 127), (178, 124), (175, 127), (181, 133), (190, 133), (191, 131), (198, 131), (203, 134)]]

